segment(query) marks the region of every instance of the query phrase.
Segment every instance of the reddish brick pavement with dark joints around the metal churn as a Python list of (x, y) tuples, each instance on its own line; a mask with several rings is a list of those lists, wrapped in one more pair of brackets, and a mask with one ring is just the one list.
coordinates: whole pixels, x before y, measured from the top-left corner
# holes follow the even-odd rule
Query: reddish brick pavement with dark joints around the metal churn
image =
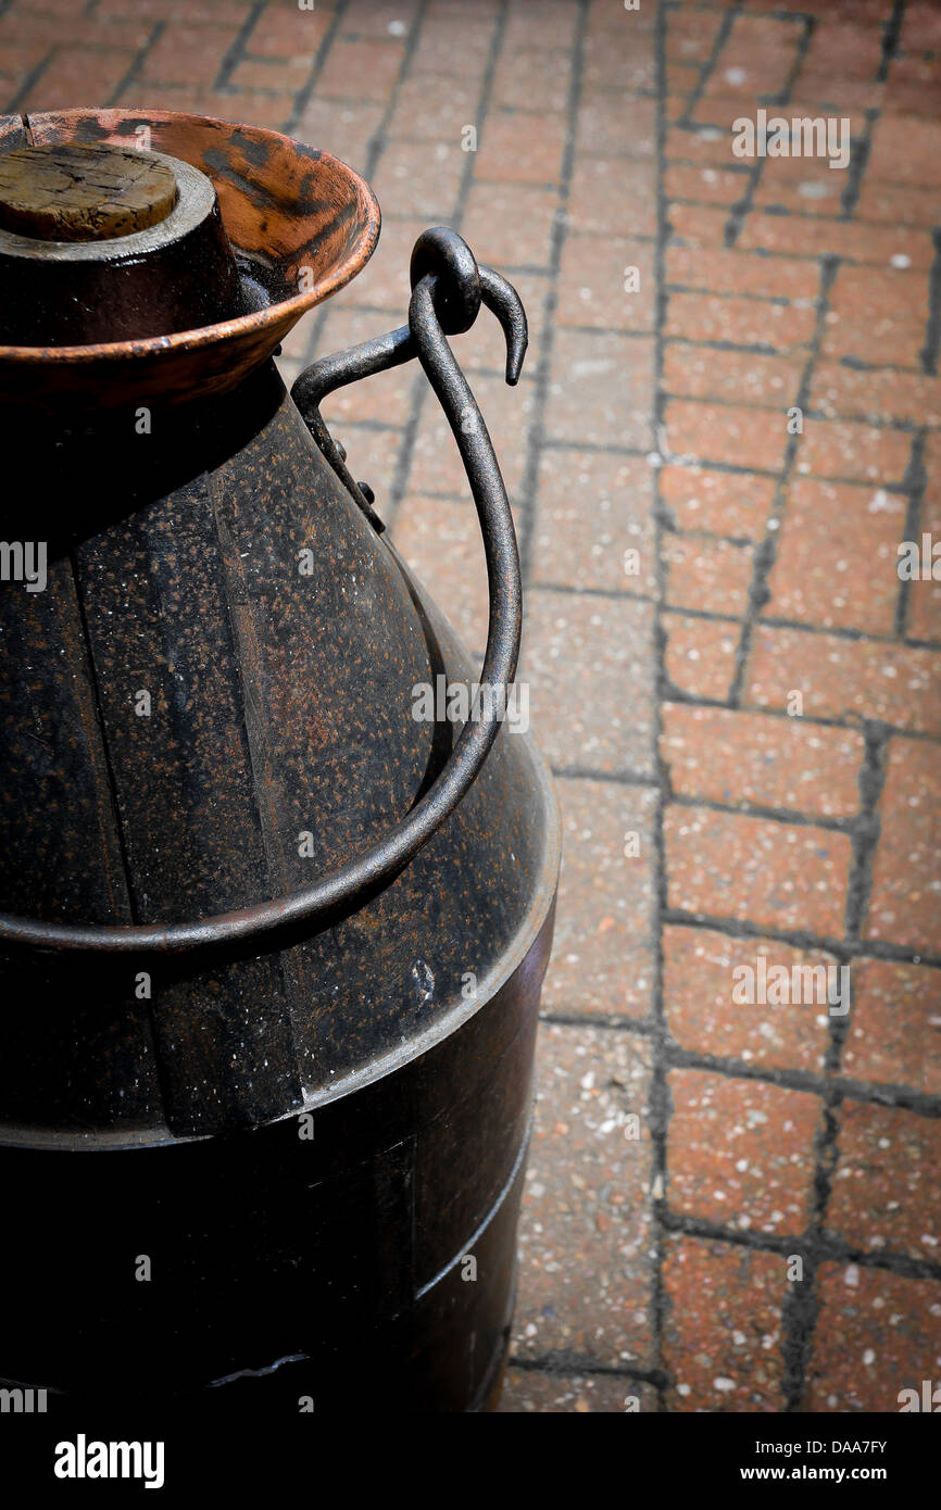
[[(381, 248), (285, 378), (400, 320), (426, 223), (526, 299), (512, 394), (495, 326), (456, 341), (568, 843), (504, 1410), (894, 1410), (938, 1377), (941, 586), (897, 547), (941, 538), (939, 57), (924, 0), (0, 6), (8, 110), (202, 110), (376, 186)], [(846, 118), (849, 165), (736, 157), (758, 107)], [(423, 379), (326, 417), (479, 651)], [(847, 1012), (733, 995), (822, 965)]]

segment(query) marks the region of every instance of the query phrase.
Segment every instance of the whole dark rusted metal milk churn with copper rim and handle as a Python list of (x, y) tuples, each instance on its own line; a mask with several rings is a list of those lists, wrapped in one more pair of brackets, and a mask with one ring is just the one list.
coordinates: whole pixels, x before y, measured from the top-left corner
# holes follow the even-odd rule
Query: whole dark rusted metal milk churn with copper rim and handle
[[(514, 678), (512, 522), (444, 331), (483, 300), (515, 381), (526, 322), (429, 233), (409, 325), (288, 397), (272, 353), (378, 230), (278, 133), (0, 122), (8, 1383), (320, 1412), (369, 1377), (385, 1413), (498, 1389), (557, 815), (498, 693), (461, 725), (415, 689)], [(483, 670), (319, 415), (411, 356), (480, 515)]]

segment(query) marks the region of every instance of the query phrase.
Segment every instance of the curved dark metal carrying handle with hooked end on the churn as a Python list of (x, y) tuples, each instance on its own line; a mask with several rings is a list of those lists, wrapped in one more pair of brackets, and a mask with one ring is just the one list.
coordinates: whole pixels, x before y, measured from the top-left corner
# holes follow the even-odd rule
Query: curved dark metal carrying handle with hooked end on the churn
[[(509, 693), (523, 627), (517, 536), (486, 424), (447, 343), (446, 331), (453, 335), (470, 329), (480, 304), (486, 304), (506, 332), (506, 381), (515, 384), (526, 353), (526, 314), (515, 288), (492, 269), (477, 267), (467, 243), (444, 228), (418, 237), (412, 252), (411, 281), (406, 326), (316, 362), (298, 378), (292, 396), (328, 459), (337, 471), (343, 468), (343, 455), (320, 418), (320, 399), (358, 378), (397, 367), (411, 356), (418, 358), (458, 442), (483, 535), (489, 627), (480, 683), (503, 687)], [(349, 473), (344, 480), (347, 479), (353, 495), (358, 494), (356, 501), (372, 515)], [(470, 717), (464, 725), (444, 770), (411, 812), (366, 853), (322, 876), (304, 891), (192, 923), (86, 926), (0, 914), (0, 944), (107, 953), (175, 953), (245, 939), (290, 923), (311, 923), (346, 908), (363, 891), (400, 871), (455, 811), (483, 766), (500, 728), (501, 699), (488, 699), (488, 704), (485, 717)], [(479, 707), (474, 711), (479, 713)]]

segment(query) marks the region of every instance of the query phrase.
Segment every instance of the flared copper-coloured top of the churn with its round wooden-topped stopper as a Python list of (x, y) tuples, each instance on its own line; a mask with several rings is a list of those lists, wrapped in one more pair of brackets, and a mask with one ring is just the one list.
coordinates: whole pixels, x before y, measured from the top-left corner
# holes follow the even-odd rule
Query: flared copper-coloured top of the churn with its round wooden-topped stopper
[(278, 131), (139, 109), (0, 116), (0, 400), (225, 393), (378, 237), (369, 184)]

